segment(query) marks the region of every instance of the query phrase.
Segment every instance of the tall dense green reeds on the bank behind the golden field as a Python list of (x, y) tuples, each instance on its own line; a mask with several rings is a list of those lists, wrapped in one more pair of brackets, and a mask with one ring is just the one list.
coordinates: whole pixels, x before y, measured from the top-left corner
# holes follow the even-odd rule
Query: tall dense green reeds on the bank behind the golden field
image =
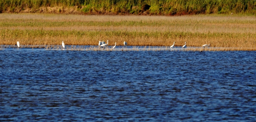
[[(47, 7), (76, 7), (84, 14), (256, 14), (255, 0), (1, 0), (0, 12), (46, 12)], [(58, 8), (59, 9), (59, 8)], [(61, 11), (61, 9), (57, 10)]]

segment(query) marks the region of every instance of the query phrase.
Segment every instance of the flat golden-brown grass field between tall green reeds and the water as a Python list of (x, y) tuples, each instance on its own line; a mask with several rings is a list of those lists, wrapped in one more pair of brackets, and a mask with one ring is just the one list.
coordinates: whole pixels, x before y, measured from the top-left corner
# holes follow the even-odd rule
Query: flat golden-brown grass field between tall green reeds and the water
[[(0, 14), (0, 45), (183, 46), (203, 50), (256, 50), (256, 17), (245, 15), (111, 16)], [(218, 47), (218, 48), (216, 48)], [(220, 47), (220, 48), (219, 48)], [(86, 49), (84, 49), (86, 50)], [(188, 49), (189, 50), (189, 49)], [(201, 51), (202, 48), (190, 48)]]

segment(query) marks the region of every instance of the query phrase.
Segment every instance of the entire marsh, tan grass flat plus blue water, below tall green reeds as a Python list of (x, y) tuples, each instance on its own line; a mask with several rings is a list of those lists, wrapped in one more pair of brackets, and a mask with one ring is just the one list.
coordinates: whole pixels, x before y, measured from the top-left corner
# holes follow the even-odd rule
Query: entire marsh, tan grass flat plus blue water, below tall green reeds
[(0, 14), (0, 121), (255, 121), (256, 21), (229, 16)]

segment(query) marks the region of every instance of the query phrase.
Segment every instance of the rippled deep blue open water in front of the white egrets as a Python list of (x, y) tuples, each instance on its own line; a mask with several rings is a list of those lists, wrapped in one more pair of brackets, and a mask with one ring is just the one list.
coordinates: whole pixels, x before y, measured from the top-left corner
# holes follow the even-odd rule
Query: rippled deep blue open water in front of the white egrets
[(0, 50), (0, 121), (256, 121), (256, 52)]

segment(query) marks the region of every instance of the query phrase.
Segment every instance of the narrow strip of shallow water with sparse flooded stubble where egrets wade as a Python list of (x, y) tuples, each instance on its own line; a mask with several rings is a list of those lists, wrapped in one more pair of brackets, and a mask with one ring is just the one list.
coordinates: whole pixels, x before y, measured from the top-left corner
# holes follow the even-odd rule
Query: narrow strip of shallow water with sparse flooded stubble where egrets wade
[(169, 46), (117, 46), (113, 49), (113, 46), (102, 48), (99, 46), (80, 46), (80, 45), (69, 45), (62, 48), (61, 45), (0, 45), (0, 50), (5, 49), (22, 49), (22, 48), (41, 48), (44, 50), (64, 50), (64, 51), (254, 51), (255, 48), (228, 48), (228, 47), (187, 47), (182, 48), (181, 46), (175, 46), (170, 48)]

